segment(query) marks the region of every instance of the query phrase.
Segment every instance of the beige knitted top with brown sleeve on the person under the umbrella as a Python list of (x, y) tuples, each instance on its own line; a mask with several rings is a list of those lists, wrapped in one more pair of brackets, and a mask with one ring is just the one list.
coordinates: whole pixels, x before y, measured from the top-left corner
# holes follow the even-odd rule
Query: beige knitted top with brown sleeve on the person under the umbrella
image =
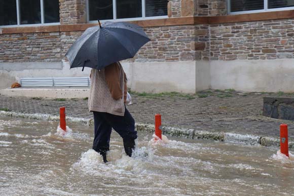
[(89, 111), (123, 116), (126, 90), (126, 76), (120, 63), (108, 65), (101, 70), (92, 69)]

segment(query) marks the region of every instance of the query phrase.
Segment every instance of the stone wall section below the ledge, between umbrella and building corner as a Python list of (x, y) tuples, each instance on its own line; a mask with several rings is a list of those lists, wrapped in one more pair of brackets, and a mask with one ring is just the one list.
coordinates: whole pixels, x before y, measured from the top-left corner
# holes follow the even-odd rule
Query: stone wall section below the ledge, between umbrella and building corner
[(151, 42), (143, 46), (129, 61), (195, 60), (194, 25), (150, 27), (144, 30)]

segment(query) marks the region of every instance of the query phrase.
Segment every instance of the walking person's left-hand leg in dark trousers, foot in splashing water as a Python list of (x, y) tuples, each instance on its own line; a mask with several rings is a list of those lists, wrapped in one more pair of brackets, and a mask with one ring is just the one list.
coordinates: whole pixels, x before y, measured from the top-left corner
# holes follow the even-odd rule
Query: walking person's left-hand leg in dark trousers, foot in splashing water
[(109, 141), (112, 127), (103, 118), (103, 113), (93, 111), (94, 114), (94, 141), (93, 149), (102, 155), (103, 161), (107, 163), (106, 152), (109, 150)]

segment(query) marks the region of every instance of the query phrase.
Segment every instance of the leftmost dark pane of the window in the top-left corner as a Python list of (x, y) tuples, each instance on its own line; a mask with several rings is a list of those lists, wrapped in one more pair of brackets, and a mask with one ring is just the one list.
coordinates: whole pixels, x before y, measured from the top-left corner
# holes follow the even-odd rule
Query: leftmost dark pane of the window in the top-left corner
[(17, 24), (16, 1), (0, 0), (0, 25)]

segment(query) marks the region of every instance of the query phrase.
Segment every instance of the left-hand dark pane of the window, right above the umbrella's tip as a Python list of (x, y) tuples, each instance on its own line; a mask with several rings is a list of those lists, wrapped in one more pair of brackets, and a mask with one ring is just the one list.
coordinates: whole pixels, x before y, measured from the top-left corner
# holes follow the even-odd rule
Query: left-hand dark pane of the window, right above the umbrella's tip
[(89, 0), (89, 20), (113, 19), (113, 0)]

